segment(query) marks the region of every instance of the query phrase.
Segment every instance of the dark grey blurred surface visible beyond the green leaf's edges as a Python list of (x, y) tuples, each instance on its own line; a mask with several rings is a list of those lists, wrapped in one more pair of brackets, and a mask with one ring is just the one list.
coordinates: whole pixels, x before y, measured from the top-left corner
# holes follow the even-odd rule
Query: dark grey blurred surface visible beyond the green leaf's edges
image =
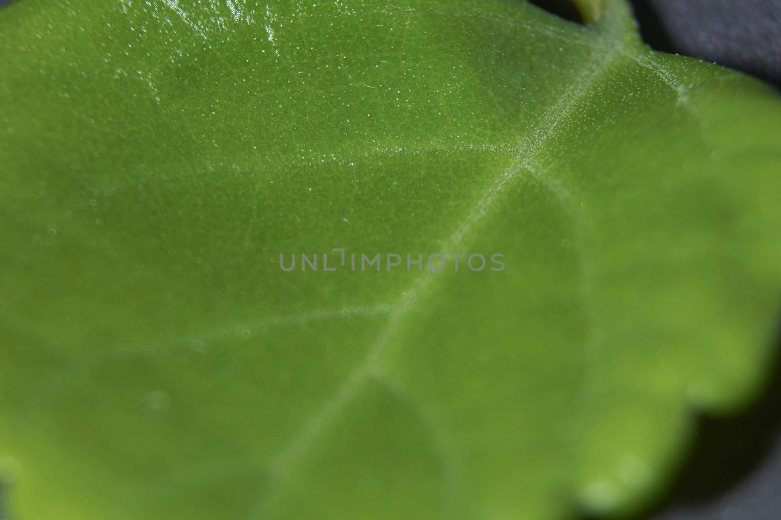
[[(0, 0), (0, 7), (10, 2)], [(572, 0), (532, 2), (580, 21)], [(781, 87), (781, 0), (633, 0), (632, 5), (652, 48), (718, 62)], [(693, 446), (662, 503), (637, 520), (779, 518), (781, 358), (763, 397), (746, 412), (699, 419)]]

